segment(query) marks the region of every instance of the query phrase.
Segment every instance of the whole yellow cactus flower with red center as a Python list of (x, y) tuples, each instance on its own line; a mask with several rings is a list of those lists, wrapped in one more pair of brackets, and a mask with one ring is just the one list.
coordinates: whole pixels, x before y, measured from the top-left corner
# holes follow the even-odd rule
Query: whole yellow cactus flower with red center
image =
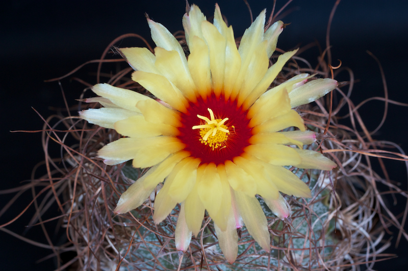
[[(310, 190), (283, 166), (331, 170), (336, 164), (320, 153), (302, 149), (315, 133), (305, 131), (292, 108), (307, 104), (337, 87), (337, 81), (299, 74), (268, 90), (297, 50), (269, 58), (283, 31), (278, 21), (264, 32), (265, 11), (246, 29), (239, 49), (232, 26), (216, 5), (214, 24), (195, 5), (183, 17), (190, 54), (160, 23), (148, 19), (155, 54), (147, 48), (122, 48), (134, 68), (132, 79), (159, 100), (111, 86), (92, 89), (105, 107), (80, 112), (88, 122), (126, 136), (98, 152), (108, 165), (133, 159), (150, 169), (124, 192), (114, 210), (140, 206), (155, 187), (154, 221), (163, 221), (181, 203), (176, 225), (177, 250), (186, 251), (207, 210), (219, 245), (229, 262), (237, 257), (237, 227), (242, 221), (266, 251), (268, 224), (256, 194), (281, 219), (289, 216), (279, 191), (310, 197)], [(289, 127), (299, 130), (279, 132)], [(292, 147), (290, 146), (292, 145)], [(294, 147), (297, 146), (297, 147)]]

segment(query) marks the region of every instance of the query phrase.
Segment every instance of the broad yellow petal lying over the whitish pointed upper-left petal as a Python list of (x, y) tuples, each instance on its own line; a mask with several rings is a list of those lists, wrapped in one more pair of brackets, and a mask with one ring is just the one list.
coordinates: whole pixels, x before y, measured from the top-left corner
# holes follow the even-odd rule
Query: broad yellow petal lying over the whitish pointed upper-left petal
[(156, 68), (166, 77), (171, 83), (180, 89), (182, 94), (195, 103), (195, 85), (191, 78), (189, 70), (184, 70), (183, 63), (177, 51), (167, 51), (163, 48), (156, 47)]

